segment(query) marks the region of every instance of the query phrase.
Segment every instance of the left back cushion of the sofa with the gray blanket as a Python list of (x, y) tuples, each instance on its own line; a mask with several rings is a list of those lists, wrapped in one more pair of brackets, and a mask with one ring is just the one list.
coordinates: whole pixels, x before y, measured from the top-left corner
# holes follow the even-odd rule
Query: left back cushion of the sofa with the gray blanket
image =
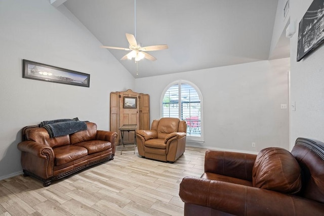
[(49, 133), (44, 127), (28, 127), (24, 131), (27, 140), (31, 140), (51, 148), (70, 145), (69, 135), (50, 138)]

